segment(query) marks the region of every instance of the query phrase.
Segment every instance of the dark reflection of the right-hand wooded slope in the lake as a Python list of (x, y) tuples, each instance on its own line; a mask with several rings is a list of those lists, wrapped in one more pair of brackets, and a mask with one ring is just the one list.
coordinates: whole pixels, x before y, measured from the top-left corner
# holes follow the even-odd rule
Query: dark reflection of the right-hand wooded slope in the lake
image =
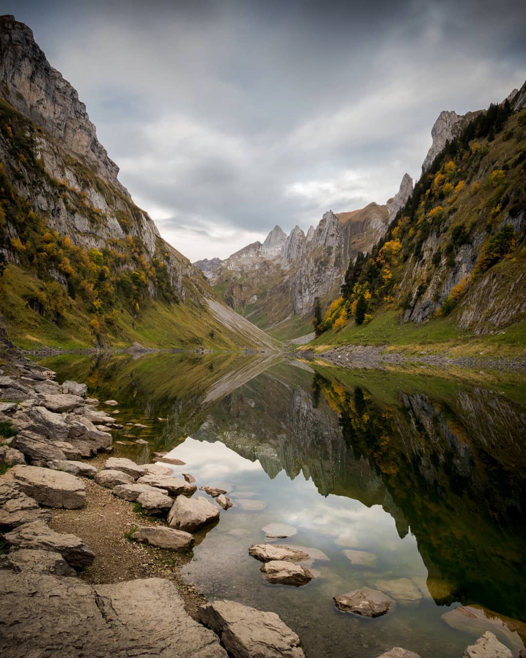
[(526, 410), (486, 390), (448, 395), (448, 403), (400, 393), (396, 407), (361, 388), (342, 390), (325, 380), (346, 442), (410, 524), (437, 602), (525, 619)]

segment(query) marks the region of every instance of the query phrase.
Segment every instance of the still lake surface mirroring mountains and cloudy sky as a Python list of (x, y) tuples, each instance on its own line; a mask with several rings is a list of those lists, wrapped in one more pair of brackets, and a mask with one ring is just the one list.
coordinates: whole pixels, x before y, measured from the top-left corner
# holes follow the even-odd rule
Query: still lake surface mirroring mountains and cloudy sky
[[(472, 374), (467, 384), (422, 369), (344, 372), (232, 354), (45, 364), (59, 381), (116, 399), (117, 422), (148, 426), (114, 432), (149, 442), (116, 445), (116, 455), (147, 463), (171, 451), (185, 462), (176, 474), (229, 491), (235, 507), (201, 533), (184, 567), (209, 599), (275, 611), (311, 658), (400, 645), (459, 657), (485, 630), (523, 647), (524, 380)], [(306, 586), (268, 584), (249, 557), (275, 522), (295, 532), (277, 542), (325, 553)], [(367, 563), (351, 563), (348, 550)], [(333, 596), (361, 586), (391, 594), (393, 611), (363, 619), (335, 608)], [(454, 613), (461, 605), (483, 607), (487, 620)]]

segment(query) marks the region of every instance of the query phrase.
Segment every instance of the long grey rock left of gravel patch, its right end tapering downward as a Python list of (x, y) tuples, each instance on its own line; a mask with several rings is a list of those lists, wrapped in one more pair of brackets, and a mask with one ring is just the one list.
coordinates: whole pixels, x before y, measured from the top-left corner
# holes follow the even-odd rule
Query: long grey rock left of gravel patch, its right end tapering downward
[(95, 553), (80, 537), (55, 532), (44, 521), (33, 521), (18, 526), (4, 535), (4, 541), (12, 547), (60, 553), (71, 567), (82, 569), (91, 565)]

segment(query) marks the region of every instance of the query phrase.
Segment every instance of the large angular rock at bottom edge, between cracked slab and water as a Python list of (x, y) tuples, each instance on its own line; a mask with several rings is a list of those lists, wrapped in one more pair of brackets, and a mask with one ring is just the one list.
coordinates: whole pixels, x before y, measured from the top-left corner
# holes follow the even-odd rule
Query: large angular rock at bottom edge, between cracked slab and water
[(234, 658), (305, 658), (300, 638), (275, 613), (214, 601), (199, 608), (199, 619), (220, 636)]

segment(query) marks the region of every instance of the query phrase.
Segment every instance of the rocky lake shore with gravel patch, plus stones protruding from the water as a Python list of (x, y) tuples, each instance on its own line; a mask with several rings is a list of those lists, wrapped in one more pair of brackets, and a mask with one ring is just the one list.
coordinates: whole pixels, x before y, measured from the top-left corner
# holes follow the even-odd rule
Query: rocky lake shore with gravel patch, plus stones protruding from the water
[[(151, 464), (112, 457), (116, 401), (101, 411), (85, 384), (59, 384), (7, 340), (1, 350), (3, 655), (304, 656), (275, 613), (208, 602), (179, 574), (227, 513), (227, 492), (204, 486), (206, 497), (195, 497), (193, 476), (176, 477), (170, 463), (181, 462), (162, 453)], [(308, 547), (254, 544), (249, 555), (269, 583), (316, 577)], [(371, 618), (395, 605), (367, 588), (334, 603)], [(487, 632), (464, 652), (475, 655), (512, 653)], [(388, 657), (418, 655), (394, 647)]]

